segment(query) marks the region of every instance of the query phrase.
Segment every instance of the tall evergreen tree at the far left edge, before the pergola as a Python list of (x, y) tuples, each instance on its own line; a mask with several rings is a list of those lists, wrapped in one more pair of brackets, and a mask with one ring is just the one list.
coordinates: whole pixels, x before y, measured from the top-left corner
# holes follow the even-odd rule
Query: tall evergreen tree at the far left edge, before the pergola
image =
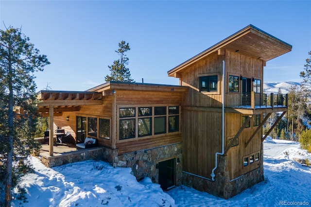
[(31, 171), (28, 155), (39, 149), (33, 139), (38, 116), (34, 72), (50, 62), (29, 40), (21, 29), (0, 30), (0, 206), (5, 207), (11, 206), (20, 177)]

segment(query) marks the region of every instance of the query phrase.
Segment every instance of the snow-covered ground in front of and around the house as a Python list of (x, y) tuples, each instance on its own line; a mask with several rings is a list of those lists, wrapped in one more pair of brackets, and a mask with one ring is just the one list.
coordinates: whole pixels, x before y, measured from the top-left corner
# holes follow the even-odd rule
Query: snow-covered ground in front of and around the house
[(47, 168), (33, 157), (35, 173), (24, 177), (28, 203), (13, 207), (272, 207), (311, 206), (311, 168), (294, 158), (311, 154), (297, 142), (264, 141), (265, 181), (228, 200), (186, 186), (163, 192), (145, 178), (137, 182), (129, 168), (113, 168), (103, 161), (84, 161)]

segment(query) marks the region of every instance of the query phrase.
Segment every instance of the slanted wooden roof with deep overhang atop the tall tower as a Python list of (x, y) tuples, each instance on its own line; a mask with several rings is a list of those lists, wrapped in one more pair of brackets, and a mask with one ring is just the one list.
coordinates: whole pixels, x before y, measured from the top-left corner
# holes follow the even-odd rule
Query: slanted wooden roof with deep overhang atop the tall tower
[(290, 52), (292, 50), (292, 45), (250, 24), (237, 33), (225, 38), (207, 50), (169, 70), (168, 75), (174, 77), (178, 71), (213, 52), (217, 52), (219, 49), (235, 51), (246, 56), (269, 61), (282, 54)]

